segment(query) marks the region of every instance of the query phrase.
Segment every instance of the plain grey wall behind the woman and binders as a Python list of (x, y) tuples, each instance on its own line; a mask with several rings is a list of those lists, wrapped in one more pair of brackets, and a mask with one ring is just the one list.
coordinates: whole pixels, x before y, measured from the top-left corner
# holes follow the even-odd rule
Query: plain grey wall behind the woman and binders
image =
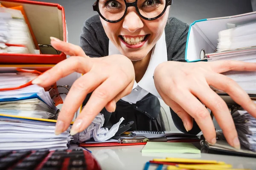
[[(64, 6), (69, 42), (79, 45), (84, 21), (97, 14), (92, 5), (96, 0), (36, 0)], [(256, 0), (252, 0), (256, 3)], [(255, 4), (256, 6), (256, 4)], [(255, 7), (256, 8), (256, 7)], [(256, 9), (255, 9), (256, 10)], [(224, 17), (252, 11), (251, 0), (173, 0), (169, 16), (185, 23), (212, 17)]]

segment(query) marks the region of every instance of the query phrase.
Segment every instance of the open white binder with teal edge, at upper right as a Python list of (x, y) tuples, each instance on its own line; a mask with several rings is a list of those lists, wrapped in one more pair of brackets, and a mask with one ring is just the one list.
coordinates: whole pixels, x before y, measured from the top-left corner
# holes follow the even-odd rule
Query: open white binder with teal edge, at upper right
[(236, 24), (249, 23), (256, 20), (256, 12), (229, 17), (198, 20), (189, 27), (185, 59), (187, 62), (207, 61), (201, 59), (201, 51), (214, 53), (218, 45), (218, 32), (233, 28)]

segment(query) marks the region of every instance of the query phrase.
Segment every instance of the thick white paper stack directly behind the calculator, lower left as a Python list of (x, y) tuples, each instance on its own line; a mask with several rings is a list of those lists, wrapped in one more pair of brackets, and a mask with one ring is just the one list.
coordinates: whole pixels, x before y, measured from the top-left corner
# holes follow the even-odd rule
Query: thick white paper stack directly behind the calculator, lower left
[(0, 117), (0, 150), (67, 149), (70, 127), (54, 134), (55, 123)]

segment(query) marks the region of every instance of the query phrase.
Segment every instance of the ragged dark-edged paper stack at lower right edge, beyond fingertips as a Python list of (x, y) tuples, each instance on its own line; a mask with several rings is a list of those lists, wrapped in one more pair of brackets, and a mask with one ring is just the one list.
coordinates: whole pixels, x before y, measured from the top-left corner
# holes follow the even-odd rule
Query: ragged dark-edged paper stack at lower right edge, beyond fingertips
[(256, 119), (247, 111), (232, 113), (241, 146), (256, 152)]

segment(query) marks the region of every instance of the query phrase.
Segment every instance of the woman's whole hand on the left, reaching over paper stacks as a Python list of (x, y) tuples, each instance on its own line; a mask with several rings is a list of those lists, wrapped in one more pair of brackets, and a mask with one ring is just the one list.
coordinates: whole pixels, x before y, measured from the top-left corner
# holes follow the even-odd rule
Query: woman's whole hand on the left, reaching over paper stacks
[(83, 74), (67, 94), (58, 116), (55, 134), (67, 130), (74, 113), (87, 94), (93, 92), (70, 130), (70, 134), (74, 135), (86, 129), (104, 107), (109, 112), (115, 111), (116, 102), (131, 93), (135, 79), (134, 67), (131, 60), (122, 55), (90, 58), (77, 45), (55, 38), (51, 38), (51, 44), (72, 57), (44, 72), (33, 84), (47, 87), (73, 72)]

